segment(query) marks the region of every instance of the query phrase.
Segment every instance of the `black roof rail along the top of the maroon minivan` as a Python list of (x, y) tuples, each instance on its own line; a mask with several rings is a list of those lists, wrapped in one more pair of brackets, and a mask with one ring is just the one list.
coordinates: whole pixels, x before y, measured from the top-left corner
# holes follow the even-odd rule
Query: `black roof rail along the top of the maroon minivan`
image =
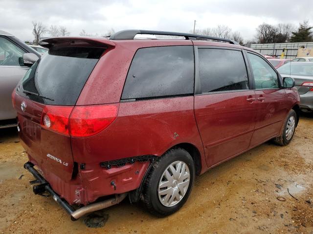
[(137, 34), (178, 36), (178, 37), (185, 37), (186, 40), (210, 39), (210, 40), (225, 41), (225, 42), (229, 42), (230, 44), (239, 45), (238, 42), (231, 40), (231, 39), (216, 38), (216, 37), (203, 36), (203, 35), (190, 34), (190, 33), (176, 33), (176, 32), (165, 32), (165, 31), (137, 30), (137, 29), (122, 30), (122, 31), (116, 32), (110, 37), (110, 39), (111, 40), (133, 40)]

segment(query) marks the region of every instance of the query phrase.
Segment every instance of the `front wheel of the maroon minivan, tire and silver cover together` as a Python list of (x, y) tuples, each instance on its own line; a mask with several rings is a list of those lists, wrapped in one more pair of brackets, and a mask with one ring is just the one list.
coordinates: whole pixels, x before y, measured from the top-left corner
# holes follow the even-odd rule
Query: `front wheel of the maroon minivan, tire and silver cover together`
[(275, 137), (273, 140), (277, 145), (285, 146), (288, 145), (294, 135), (297, 124), (297, 115), (294, 110), (290, 110), (285, 120), (283, 131), (279, 137)]

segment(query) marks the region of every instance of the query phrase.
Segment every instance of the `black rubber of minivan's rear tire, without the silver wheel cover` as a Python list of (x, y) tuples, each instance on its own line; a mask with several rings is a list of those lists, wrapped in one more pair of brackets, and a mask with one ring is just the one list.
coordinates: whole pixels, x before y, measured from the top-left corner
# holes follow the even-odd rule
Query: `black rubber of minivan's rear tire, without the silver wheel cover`
[[(164, 206), (158, 197), (158, 185), (164, 171), (175, 161), (186, 163), (189, 169), (189, 186), (185, 195), (174, 206)], [(146, 208), (153, 215), (164, 217), (178, 211), (188, 199), (195, 180), (195, 164), (190, 154), (181, 148), (169, 150), (163, 156), (158, 158), (152, 165), (146, 178), (143, 189), (143, 202)]]

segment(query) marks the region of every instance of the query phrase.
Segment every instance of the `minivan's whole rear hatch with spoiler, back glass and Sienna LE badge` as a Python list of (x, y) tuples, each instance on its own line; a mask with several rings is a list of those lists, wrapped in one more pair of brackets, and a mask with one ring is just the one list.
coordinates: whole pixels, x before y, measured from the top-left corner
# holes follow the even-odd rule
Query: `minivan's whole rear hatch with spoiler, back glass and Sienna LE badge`
[(13, 95), (20, 137), (31, 161), (44, 174), (70, 180), (74, 161), (69, 117), (94, 66), (106, 50), (90, 40), (48, 39), (44, 54)]

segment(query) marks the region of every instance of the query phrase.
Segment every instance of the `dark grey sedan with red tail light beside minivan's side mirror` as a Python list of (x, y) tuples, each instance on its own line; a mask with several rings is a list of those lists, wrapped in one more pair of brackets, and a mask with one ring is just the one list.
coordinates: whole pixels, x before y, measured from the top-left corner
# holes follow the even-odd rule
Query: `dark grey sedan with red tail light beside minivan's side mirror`
[(295, 80), (295, 87), (300, 95), (300, 108), (304, 112), (313, 111), (313, 62), (286, 63), (277, 71), (282, 77)]

